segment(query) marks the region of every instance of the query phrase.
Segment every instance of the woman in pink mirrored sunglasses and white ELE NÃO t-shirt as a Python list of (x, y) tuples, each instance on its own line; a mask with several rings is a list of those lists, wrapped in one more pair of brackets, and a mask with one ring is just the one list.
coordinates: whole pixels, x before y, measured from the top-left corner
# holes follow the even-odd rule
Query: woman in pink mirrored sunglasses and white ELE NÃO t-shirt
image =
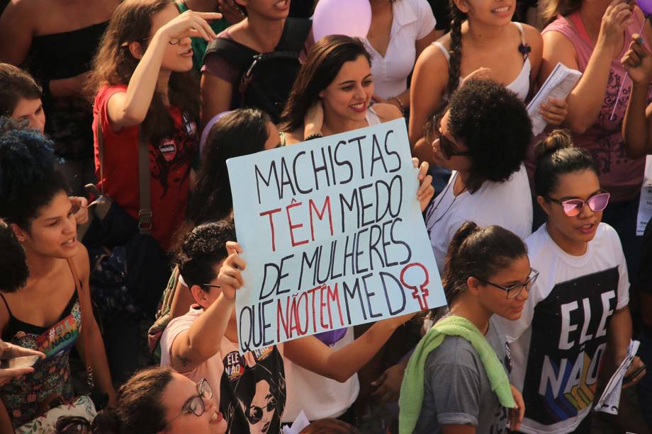
[[(540, 274), (521, 317), (502, 321), (511, 381), (525, 401), (520, 430), (590, 433), (597, 377), (612, 374), (631, 340), (627, 266), (618, 234), (601, 222), (609, 193), (590, 154), (561, 130), (536, 154), (536, 200), (547, 221), (525, 243)], [(642, 366), (635, 358), (628, 374)]]

